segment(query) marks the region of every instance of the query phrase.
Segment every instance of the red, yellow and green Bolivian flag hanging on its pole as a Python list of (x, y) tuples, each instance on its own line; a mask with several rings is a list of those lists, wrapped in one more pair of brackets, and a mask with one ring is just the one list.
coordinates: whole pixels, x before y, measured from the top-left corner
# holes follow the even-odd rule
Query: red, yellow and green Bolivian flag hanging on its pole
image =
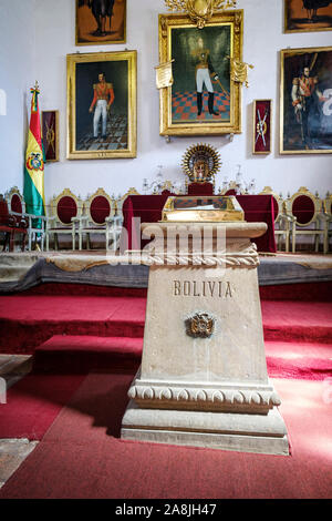
[[(31, 89), (31, 116), (24, 167), (24, 201), (28, 214), (45, 215), (44, 197), (44, 153), (39, 115), (38, 84)], [(33, 223), (41, 226), (41, 219)]]

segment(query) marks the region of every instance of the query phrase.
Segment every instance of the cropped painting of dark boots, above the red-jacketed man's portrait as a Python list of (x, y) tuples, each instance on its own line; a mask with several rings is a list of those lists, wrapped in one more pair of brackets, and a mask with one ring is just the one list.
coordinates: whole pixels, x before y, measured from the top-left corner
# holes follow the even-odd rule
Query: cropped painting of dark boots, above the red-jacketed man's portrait
[(125, 43), (127, 0), (75, 0), (76, 45)]

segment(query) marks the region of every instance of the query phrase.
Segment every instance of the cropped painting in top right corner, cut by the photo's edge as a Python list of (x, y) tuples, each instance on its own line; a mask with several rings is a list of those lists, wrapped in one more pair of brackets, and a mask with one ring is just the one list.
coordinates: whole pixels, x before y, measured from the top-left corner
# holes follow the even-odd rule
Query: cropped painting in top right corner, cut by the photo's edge
[(283, 0), (284, 32), (332, 30), (331, 0)]

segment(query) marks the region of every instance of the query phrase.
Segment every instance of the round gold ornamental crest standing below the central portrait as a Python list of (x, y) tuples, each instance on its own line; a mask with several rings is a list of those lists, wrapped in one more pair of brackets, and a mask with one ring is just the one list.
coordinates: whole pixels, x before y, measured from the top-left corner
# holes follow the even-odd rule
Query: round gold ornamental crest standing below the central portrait
[(212, 146), (200, 143), (186, 151), (181, 166), (190, 183), (209, 183), (221, 166), (220, 155)]

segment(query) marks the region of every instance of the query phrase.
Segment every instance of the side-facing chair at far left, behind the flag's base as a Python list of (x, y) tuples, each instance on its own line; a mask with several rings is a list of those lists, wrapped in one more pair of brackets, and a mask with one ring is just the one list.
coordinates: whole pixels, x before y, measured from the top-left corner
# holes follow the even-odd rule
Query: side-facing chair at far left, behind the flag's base
[(28, 251), (31, 252), (33, 244), (40, 244), (40, 248), (43, 252), (46, 217), (44, 215), (33, 215), (25, 212), (24, 197), (17, 186), (13, 186), (6, 193), (6, 200), (10, 214), (28, 219)]

